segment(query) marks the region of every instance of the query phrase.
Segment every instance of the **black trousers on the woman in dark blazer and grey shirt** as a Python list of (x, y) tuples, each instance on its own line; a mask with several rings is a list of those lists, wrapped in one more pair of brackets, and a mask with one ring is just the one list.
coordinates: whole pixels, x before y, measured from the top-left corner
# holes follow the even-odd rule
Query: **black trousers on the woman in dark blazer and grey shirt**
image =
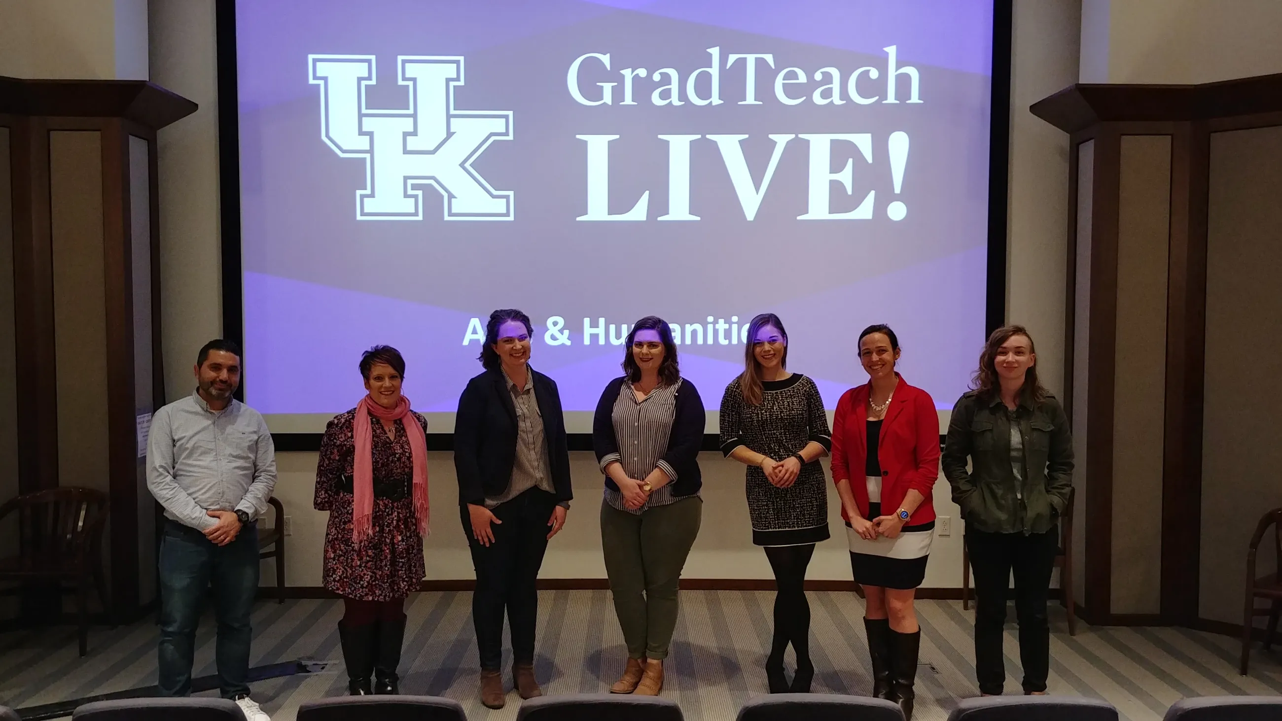
[(494, 543), (488, 547), (472, 535), (467, 505), (460, 506), (463, 531), (468, 534), (477, 589), (472, 593), (472, 624), (476, 626), (481, 668), (503, 667), (503, 616), (508, 613), (513, 661), (535, 660), (535, 622), (538, 619), (538, 590), (535, 583), (547, 551), (547, 520), (556, 497), (531, 488), (506, 503), (491, 508), (503, 521), (490, 524)]

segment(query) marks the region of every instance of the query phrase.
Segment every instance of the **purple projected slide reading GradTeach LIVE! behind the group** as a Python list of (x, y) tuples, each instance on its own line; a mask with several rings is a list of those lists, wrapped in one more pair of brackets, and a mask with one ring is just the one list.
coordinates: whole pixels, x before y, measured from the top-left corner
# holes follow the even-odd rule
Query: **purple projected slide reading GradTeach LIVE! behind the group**
[(236, 26), (264, 414), (350, 409), (376, 343), (453, 412), (497, 307), (568, 411), (645, 315), (709, 410), (765, 311), (829, 409), (872, 323), (941, 409), (967, 387), (991, 0), (242, 0)]

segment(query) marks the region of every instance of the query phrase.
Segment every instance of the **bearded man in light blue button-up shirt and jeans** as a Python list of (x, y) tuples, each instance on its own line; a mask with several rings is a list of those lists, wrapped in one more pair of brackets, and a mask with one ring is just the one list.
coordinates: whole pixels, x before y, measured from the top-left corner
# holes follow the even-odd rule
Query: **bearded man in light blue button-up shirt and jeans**
[(196, 391), (156, 411), (147, 439), (147, 488), (165, 515), (160, 695), (191, 693), (196, 626), (213, 585), (222, 695), (246, 721), (271, 721), (249, 697), (249, 651), (259, 575), (255, 524), (276, 485), (276, 448), (263, 416), (232, 398), (241, 371), (236, 343), (205, 343), (195, 371)]

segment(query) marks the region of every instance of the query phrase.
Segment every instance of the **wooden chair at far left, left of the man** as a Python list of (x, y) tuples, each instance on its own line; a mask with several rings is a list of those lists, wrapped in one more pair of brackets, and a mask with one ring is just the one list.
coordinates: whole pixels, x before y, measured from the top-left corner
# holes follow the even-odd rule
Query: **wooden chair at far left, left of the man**
[(0, 521), (18, 514), (18, 555), (0, 558), (0, 583), (56, 584), (76, 592), (79, 654), (88, 653), (88, 589), (94, 585), (112, 616), (103, 572), (103, 529), (108, 497), (92, 488), (50, 488), (0, 506)]

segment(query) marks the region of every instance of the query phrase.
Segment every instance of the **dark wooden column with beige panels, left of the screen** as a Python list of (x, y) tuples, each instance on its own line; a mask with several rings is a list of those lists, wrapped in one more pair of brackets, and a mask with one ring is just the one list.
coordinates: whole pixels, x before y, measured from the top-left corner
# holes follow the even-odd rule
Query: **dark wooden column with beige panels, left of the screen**
[(137, 435), (138, 417), (164, 402), (156, 131), (195, 110), (141, 81), (0, 77), (18, 489), (110, 496), (104, 553), (122, 621), (138, 617), (156, 590), (155, 502)]

